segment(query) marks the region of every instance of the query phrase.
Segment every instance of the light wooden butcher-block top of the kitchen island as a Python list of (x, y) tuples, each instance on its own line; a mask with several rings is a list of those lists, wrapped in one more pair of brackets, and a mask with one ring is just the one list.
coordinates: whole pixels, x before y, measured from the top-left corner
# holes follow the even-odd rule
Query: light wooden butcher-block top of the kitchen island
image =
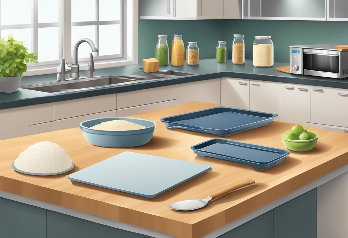
[[(261, 171), (235, 162), (210, 157), (201, 158), (190, 147), (217, 136), (182, 129), (171, 130), (160, 122), (163, 117), (215, 106), (219, 105), (190, 102), (132, 116), (151, 120), (157, 124), (153, 137), (147, 144), (132, 148), (103, 148), (91, 145), (85, 140), (80, 128), (2, 140), (0, 141), (0, 190), (5, 194), (19, 195), (121, 224), (125, 223), (128, 226), (160, 232), (157, 234), (162, 233), (164, 237), (169, 235), (199, 238), (286, 197), (348, 164), (348, 133), (307, 128), (319, 134), (318, 142), (312, 150), (290, 151), (290, 155), (283, 162)], [(270, 125), (232, 135), (227, 139), (286, 149), (280, 135), (288, 132), (293, 125), (273, 121)], [(15, 172), (11, 164), (19, 153), (29, 145), (40, 141), (50, 141), (60, 145), (76, 167), (68, 173), (53, 176), (33, 176)], [(125, 151), (206, 164), (212, 167), (212, 171), (194, 177), (154, 198), (143, 198), (70, 181), (67, 178), (71, 173)], [(256, 182), (212, 201), (201, 209), (175, 211), (167, 207), (181, 200), (204, 199), (214, 192), (247, 179)]]

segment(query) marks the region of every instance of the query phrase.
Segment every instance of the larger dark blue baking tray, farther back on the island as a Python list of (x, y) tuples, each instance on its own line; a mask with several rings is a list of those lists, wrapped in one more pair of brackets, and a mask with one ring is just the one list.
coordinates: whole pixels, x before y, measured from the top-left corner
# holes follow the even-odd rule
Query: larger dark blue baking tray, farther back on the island
[(272, 123), (278, 114), (218, 106), (161, 118), (168, 129), (185, 129), (217, 136), (235, 135)]

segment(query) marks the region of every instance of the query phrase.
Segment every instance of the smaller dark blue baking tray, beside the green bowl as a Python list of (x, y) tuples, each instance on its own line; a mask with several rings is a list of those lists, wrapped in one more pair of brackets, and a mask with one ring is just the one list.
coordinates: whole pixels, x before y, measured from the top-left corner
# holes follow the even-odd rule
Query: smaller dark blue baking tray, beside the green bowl
[(283, 162), (289, 151), (240, 141), (214, 138), (192, 145), (200, 157), (213, 157), (265, 170)]

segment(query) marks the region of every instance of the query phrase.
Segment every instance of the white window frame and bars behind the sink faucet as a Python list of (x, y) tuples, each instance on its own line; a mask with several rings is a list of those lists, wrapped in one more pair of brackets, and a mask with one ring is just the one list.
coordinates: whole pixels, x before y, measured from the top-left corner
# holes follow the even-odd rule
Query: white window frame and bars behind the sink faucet
[[(114, 57), (116, 55), (102, 56), (102, 57), (100, 57), (100, 59), (94, 61), (95, 69), (103, 69), (103, 68), (111, 68), (111, 67), (117, 67), (117, 66), (138, 64), (138, 0), (121, 0), (121, 1), (123, 1), (123, 4), (122, 4), (123, 9), (121, 9), (121, 10), (125, 14), (125, 18), (123, 19), (124, 22), (123, 22), (122, 31), (124, 33), (126, 33), (126, 34), (122, 35), (122, 39), (121, 39), (121, 46), (122, 46), (122, 41), (123, 41), (123, 48), (121, 49), (121, 53), (123, 51), (123, 57), (115, 59)], [(36, 2), (36, 4), (37, 4), (37, 0), (33, 0), (33, 2)], [(96, 2), (97, 2), (97, 0), (96, 0)], [(33, 3), (33, 4), (35, 4), (35, 3)], [(72, 25), (72, 23), (71, 23), (71, 0), (59, 0), (59, 4), (61, 6), (60, 9), (63, 9), (63, 11), (61, 11), (61, 10), (59, 11), (59, 21), (60, 21), (60, 24), (58, 23), (58, 27), (59, 27), (59, 31), (60, 31), (60, 33), (59, 33), (60, 34), (59, 57), (61, 58), (63, 56), (65, 58), (65, 62), (70, 64), (72, 62), (72, 57), (71, 57), (71, 52), (72, 52), (72, 49), (71, 49), (71, 25)], [(96, 5), (96, 10), (98, 10), (97, 5)], [(33, 15), (36, 15), (36, 23), (37, 23), (37, 13), (33, 12)], [(114, 24), (113, 22), (116, 22), (116, 21), (108, 21), (107, 23)], [(32, 23), (35, 23), (35, 21), (32, 21)], [(96, 22), (87, 22), (87, 23), (81, 22), (81, 23), (73, 23), (73, 25), (96, 25), (93, 23), (98, 23), (98, 22), (97, 21)], [(102, 22), (102, 24), (103, 23), (105, 23), (105, 22)], [(42, 23), (42, 24), (51, 24), (51, 23)], [(56, 23), (52, 23), (52, 24), (56, 24)], [(35, 24), (33, 26), (35, 26)], [(44, 25), (41, 27), (44, 27)], [(13, 28), (11, 28), (11, 29), (13, 29)], [(35, 31), (35, 28), (34, 28), (34, 31)], [(35, 34), (33, 34), (33, 35), (35, 37)], [(37, 35), (37, 33), (36, 33), (36, 35)], [(97, 40), (98, 40), (98, 37), (99, 37), (98, 34), (96, 34)], [(97, 42), (95, 42), (95, 43), (97, 43)], [(37, 38), (36, 38), (36, 40), (34, 38), (33, 44), (34, 44), (33, 49), (35, 50), (35, 44), (36, 44), (36, 50), (37, 50)], [(34, 51), (34, 52), (37, 52), (37, 51)], [(113, 57), (113, 58), (111, 58), (111, 57)], [(24, 76), (56, 73), (59, 62), (60, 62), (60, 60), (58, 62), (56, 62), (56, 61), (45, 62), (45, 68), (44, 67), (40, 68), (40, 62), (39, 62), (38, 65), (33, 66), (32, 69), (30, 69), (30, 67), (28, 67), (29, 69), (24, 73)], [(87, 62), (88, 62), (88, 58), (81, 58), (79, 60), (80, 70), (86, 70)], [(52, 63), (52, 64), (50, 64), (50, 63)]]

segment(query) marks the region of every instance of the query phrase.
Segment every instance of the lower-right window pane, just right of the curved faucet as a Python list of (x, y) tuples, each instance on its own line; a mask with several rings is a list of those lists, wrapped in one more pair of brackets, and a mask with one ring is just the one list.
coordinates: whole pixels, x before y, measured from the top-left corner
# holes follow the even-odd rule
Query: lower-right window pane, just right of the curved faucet
[(99, 55), (120, 54), (120, 25), (99, 26)]

